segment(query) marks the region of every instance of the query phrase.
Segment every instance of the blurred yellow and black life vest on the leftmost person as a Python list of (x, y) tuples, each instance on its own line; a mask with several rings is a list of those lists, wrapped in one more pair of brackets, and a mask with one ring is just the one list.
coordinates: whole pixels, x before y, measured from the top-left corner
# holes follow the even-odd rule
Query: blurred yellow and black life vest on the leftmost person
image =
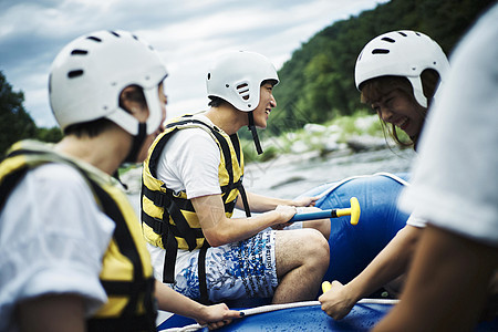
[(100, 273), (108, 300), (87, 319), (89, 331), (156, 331), (151, 257), (133, 207), (110, 176), (91, 165), (55, 153), (49, 145), (33, 141), (19, 142), (0, 164), (0, 209), (27, 172), (48, 163), (64, 164), (79, 170), (98, 207), (115, 222)]

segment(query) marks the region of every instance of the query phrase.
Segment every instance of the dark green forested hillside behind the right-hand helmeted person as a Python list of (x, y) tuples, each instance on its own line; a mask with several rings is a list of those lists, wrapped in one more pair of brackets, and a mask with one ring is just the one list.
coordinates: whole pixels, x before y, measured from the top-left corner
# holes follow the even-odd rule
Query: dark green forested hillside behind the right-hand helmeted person
[[(318, 32), (279, 71), (277, 108), (264, 135), (324, 123), (365, 108), (354, 85), (354, 64), (363, 46), (378, 34), (416, 30), (436, 40), (450, 55), (490, 0), (392, 0), (336, 21)], [(242, 136), (249, 138), (242, 131)], [(247, 137), (246, 137), (247, 135)]]

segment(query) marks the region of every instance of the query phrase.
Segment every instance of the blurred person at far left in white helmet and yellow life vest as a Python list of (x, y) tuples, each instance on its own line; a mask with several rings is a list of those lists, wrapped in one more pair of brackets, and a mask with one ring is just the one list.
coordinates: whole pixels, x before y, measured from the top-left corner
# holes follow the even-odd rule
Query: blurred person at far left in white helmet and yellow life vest
[(19, 142), (0, 164), (1, 331), (156, 331), (156, 299), (212, 328), (238, 315), (155, 281), (135, 212), (111, 177), (142, 162), (164, 129), (166, 75), (126, 31), (77, 38), (55, 58), (49, 93), (64, 138)]

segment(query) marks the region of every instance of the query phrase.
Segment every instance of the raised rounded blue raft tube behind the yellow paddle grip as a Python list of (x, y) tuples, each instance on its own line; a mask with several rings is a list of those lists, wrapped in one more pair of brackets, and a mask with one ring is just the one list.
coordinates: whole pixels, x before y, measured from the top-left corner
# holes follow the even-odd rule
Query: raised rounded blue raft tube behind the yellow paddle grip
[(301, 196), (321, 196), (321, 209), (347, 208), (356, 197), (361, 215), (356, 226), (350, 217), (331, 219), (330, 263), (323, 278), (346, 283), (356, 277), (406, 225), (408, 214), (397, 208), (397, 198), (407, 185), (407, 174), (380, 173), (355, 176), (313, 188)]

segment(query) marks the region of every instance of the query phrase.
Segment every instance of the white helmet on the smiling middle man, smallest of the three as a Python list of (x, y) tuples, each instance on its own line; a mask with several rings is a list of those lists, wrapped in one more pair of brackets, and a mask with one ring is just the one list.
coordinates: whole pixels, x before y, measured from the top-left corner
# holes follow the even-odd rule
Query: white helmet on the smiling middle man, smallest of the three
[(250, 112), (258, 107), (260, 86), (266, 80), (279, 83), (277, 70), (267, 58), (255, 52), (229, 52), (209, 69), (207, 93)]

